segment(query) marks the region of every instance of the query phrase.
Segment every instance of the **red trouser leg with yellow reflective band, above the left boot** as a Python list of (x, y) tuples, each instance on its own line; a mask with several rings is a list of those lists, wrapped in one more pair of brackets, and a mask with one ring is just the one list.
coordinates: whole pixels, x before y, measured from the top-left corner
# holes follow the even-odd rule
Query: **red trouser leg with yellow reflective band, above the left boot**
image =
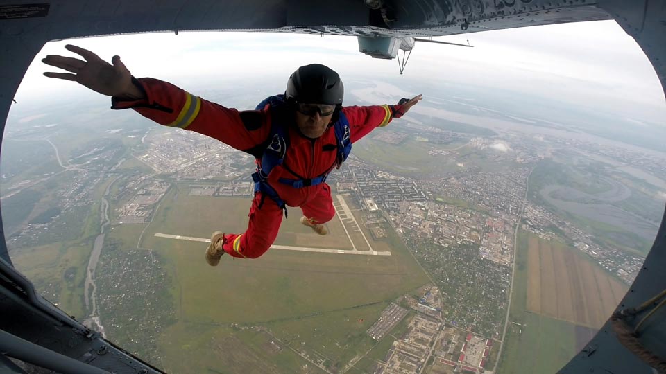
[(260, 192), (255, 193), (249, 217), (245, 233), (224, 235), (222, 248), (231, 256), (240, 258), (262, 256), (278, 236), (282, 223), (282, 209), (270, 197)]

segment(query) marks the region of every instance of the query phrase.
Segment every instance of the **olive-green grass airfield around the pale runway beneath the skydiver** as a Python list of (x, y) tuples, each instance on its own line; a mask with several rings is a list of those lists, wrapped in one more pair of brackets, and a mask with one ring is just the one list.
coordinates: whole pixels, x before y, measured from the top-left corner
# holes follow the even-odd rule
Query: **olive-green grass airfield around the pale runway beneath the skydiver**
[[(395, 233), (374, 242), (362, 224), (373, 250), (391, 251), (391, 256), (270, 249), (255, 260), (224, 256), (218, 267), (210, 267), (204, 260), (206, 243), (155, 233), (210, 238), (216, 230), (242, 232), (251, 200), (187, 192), (173, 188), (162, 199), (141, 242), (167, 258), (174, 278), (177, 322), (160, 337), (165, 358), (156, 363), (168, 372), (343, 371), (377, 344), (365, 331), (386, 305), (428, 281)], [(356, 216), (357, 207), (349, 208)], [(352, 250), (338, 217), (328, 224), (329, 235), (320, 236), (300, 224), (300, 213), (289, 209), (275, 244)], [(347, 229), (357, 241), (359, 233), (351, 226)]]

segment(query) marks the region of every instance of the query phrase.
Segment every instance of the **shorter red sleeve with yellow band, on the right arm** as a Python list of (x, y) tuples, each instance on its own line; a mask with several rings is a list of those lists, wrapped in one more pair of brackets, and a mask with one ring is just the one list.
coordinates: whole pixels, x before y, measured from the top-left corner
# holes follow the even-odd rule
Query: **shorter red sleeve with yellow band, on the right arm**
[(370, 107), (342, 107), (349, 121), (352, 143), (375, 130), (391, 123), (393, 118), (402, 116), (402, 105), (373, 105)]

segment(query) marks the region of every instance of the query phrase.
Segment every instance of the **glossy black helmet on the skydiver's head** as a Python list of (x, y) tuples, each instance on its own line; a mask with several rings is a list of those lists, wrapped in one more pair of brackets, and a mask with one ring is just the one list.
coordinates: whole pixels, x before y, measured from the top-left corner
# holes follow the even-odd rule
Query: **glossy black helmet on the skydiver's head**
[(287, 99), (296, 103), (341, 105), (345, 87), (340, 75), (327, 66), (300, 66), (287, 81)]

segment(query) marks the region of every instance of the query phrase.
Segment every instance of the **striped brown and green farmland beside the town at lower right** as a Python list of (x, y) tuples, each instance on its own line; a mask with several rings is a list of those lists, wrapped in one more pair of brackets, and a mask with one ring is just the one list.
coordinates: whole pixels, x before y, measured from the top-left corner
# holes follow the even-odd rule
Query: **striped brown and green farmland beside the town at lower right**
[(584, 253), (518, 231), (513, 301), (497, 373), (554, 373), (606, 322), (626, 285)]

